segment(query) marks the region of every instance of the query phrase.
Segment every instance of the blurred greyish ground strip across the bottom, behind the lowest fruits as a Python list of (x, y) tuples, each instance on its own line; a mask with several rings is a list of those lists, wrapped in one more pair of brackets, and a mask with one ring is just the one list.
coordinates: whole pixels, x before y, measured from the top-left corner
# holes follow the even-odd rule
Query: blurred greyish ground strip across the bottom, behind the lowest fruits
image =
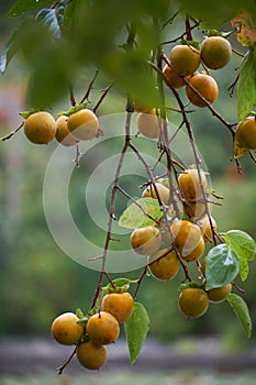
[[(25, 378), (27, 375), (41, 376), (44, 373), (54, 375), (54, 378), (66, 378), (66, 376), (84, 375), (85, 373), (91, 377), (91, 372), (81, 367), (76, 358), (62, 376), (57, 375), (55, 369), (67, 360), (71, 351), (73, 346), (63, 346), (52, 340), (37, 338), (2, 340), (0, 342), (0, 384), (14, 385), (15, 382), (7, 382), (8, 378)], [(187, 342), (176, 342), (174, 345), (163, 345), (148, 340), (136, 363), (130, 369), (125, 341), (119, 340), (118, 343), (108, 346), (108, 361), (100, 371), (100, 375), (109, 376), (116, 371), (129, 375), (138, 373), (152, 373), (153, 375), (157, 372), (170, 371), (216, 372), (237, 377), (242, 372), (249, 374), (255, 371), (256, 374), (256, 346), (241, 353), (227, 353), (221, 352), (218, 341), (212, 338), (197, 338), (197, 340), (187, 340)], [(255, 384), (256, 380), (254, 381)], [(59, 384), (66, 383), (60, 382)]]

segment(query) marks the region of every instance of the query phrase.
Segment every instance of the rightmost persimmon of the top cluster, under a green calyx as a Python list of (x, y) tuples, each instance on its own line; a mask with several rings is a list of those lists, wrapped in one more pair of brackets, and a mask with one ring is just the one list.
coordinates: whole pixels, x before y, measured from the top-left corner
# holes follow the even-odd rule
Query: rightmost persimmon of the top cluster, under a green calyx
[(222, 36), (205, 37), (202, 42), (201, 58), (210, 69), (220, 69), (227, 65), (232, 56), (231, 43)]

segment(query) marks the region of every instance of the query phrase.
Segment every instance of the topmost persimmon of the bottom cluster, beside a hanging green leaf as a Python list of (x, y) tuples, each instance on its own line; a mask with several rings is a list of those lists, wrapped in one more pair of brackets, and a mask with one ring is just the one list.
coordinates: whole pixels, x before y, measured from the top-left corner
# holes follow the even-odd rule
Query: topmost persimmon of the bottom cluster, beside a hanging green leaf
[(102, 309), (123, 323), (133, 312), (134, 300), (130, 293), (110, 293), (103, 297)]

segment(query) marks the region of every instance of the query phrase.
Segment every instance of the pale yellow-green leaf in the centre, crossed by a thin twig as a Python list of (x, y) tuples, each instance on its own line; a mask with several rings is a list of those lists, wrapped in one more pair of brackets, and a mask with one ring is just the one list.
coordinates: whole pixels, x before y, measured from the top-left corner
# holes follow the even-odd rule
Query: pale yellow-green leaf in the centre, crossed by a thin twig
[(136, 200), (136, 204), (133, 202), (123, 211), (119, 219), (119, 226), (127, 229), (138, 229), (154, 224), (155, 221), (148, 218), (142, 209), (156, 221), (163, 217), (157, 199), (140, 198)]

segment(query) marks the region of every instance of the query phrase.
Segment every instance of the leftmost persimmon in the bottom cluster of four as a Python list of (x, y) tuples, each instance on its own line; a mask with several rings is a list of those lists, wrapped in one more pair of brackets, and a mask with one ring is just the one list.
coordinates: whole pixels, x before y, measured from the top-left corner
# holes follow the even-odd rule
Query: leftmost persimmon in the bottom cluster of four
[(84, 334), (84, 328), (77, 321), (79, 318), (74, 312), (64, 312), (55, 318), (51, 327), (54, 339), (64, 345), (76, 344)]

